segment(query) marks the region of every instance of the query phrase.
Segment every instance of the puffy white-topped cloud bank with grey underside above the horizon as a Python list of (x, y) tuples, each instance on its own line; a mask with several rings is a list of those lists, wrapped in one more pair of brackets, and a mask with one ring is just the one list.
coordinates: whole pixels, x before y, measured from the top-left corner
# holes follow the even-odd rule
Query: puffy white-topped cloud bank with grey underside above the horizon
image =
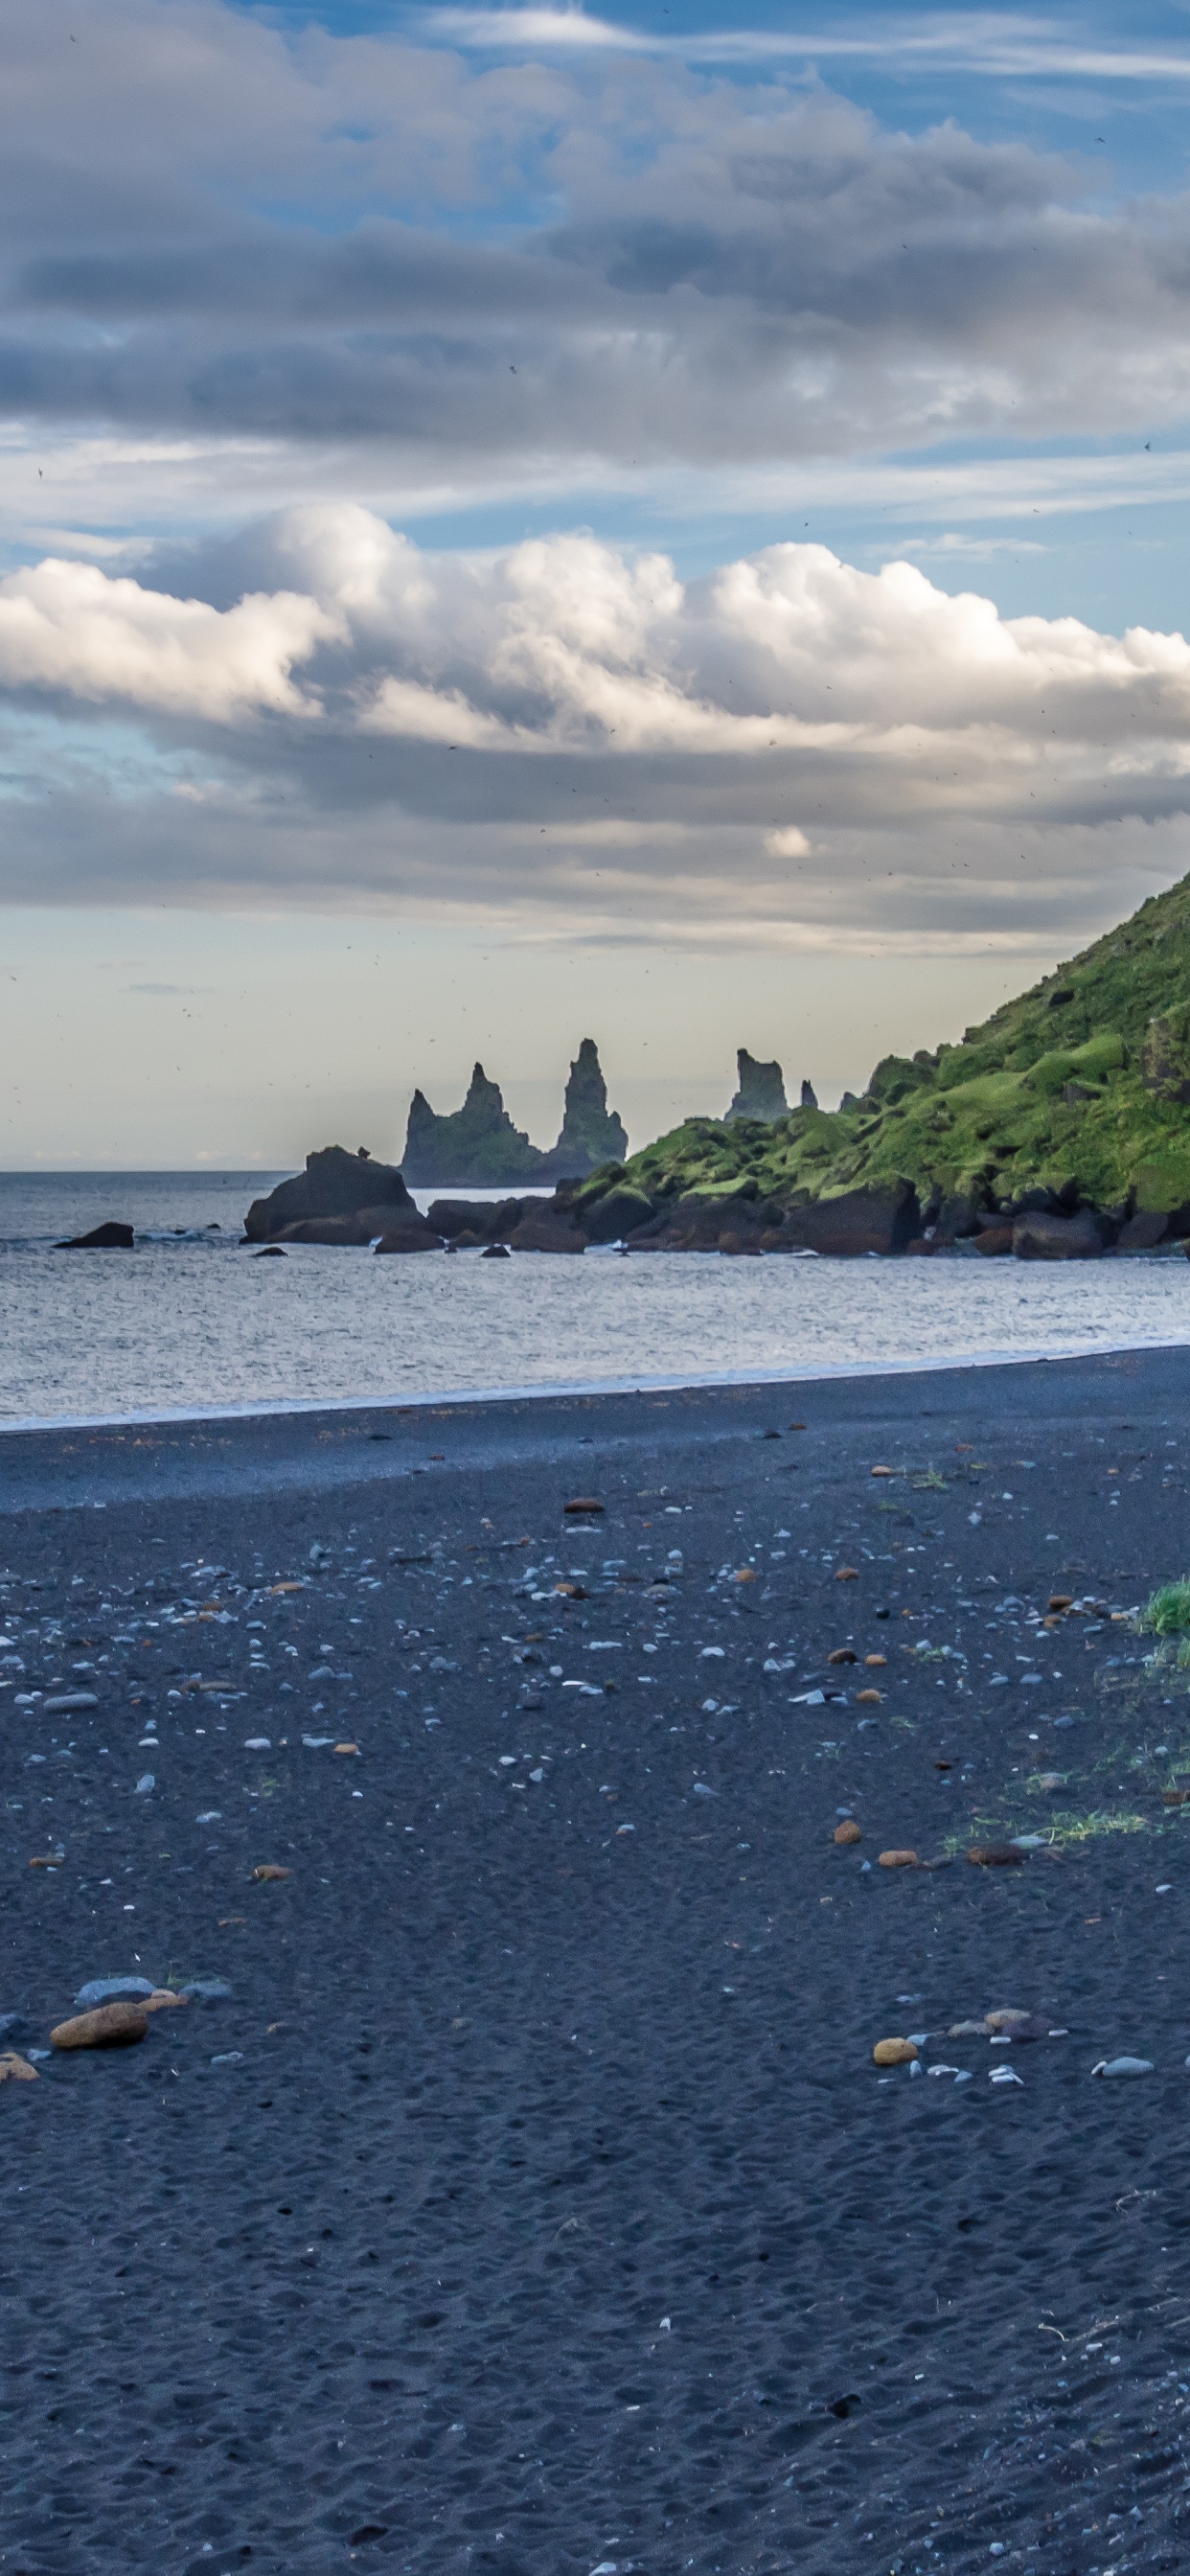
[(116, 840), (39, 737), (54, 796), (28, 775), (5, 806), (10, 899), (160, 881), (518, 938), (1020, 948), (1105, 868), (1185, 866), (1180, 634), (1002, 618), (811, 544), (695, 582), (592, 536), (428, 554), (345, 505), (245, 531), (222, 590), (237, 556), (232, 605), (193, 595), (198, 559), (188, 598), (57, 562), (0, 585), (3, 688), (67, 744), (98, 711), (147, 737)]

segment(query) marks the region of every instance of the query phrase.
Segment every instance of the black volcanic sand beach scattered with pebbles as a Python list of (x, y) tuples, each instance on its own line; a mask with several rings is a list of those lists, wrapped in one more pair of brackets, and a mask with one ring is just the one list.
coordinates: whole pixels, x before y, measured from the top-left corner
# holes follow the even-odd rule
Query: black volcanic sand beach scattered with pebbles
[(1185, 1381), (5, 1437), (5, 2576), (1190, 2563)]

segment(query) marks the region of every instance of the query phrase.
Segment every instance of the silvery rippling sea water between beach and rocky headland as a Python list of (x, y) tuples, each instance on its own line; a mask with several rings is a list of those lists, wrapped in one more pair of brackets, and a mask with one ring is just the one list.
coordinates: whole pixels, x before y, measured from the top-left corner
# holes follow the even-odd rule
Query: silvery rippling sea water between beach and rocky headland
[[(242, 1249), (270, 1172), (0, 1175), (0, 1422), (796, 1378), (1190, 1340), (1190, 1262)], [(420, 1206), (435, 1193), (420, 1190)], [(466, 1193), (471, 1198), (482, 1193)], [(484, 1193), (500, 1198), (505, 1193)], [(57, 1252), (103, 1218), (134, 1252)]]

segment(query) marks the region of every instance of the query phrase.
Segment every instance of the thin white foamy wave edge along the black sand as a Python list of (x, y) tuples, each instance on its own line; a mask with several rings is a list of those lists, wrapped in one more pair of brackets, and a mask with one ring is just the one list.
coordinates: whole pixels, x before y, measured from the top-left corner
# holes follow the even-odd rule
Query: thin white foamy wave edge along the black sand
[(291, 1396), (276, 1404), (201, 1404), (201, 1406), (160, 1406), (142, 1409), (131, 1414), (23, 1414), (8, 1419), (0, 1414), (0, 1440), (33, 1432), (121, 1432), (121, 1430), (157, 1430), (170, 1425), (203, 1425), (203, 1422), (288, 1422), (314, 1414), (407, 1414), (430, 1412), (435, 1406), (495, 1406), (495, 1404), (541, 1404), (549, 1399), (598, 1399), (598, 1396), (652, 1396), (652, 1394), (713, 1394), (716, 1388), (770, 1388), (770, 1386), (817, 1386), (837, 1383), (853, 1378), (912, 1378), (912, 1376), (940, 1376), (948, 1370), (999, 1370), (999, 1368), (1035, 1368), (1059, 1365), (1064, 1360), (1110, 1360), (1123, 1352), (1169, 1352), (1190, 1350), (1187, 1342), (1169, 1342), (1164, 1337), (1120, 1337), (1105, 1342), (1051, 1342), (1041, 1350), (968, 1350), (968, 1352), (940, 1352), (940, 1355), (914, 1355), (907, 1360), (824, 1360), (806, 1363), (804, 1368), (739, 1368), (739, 1370), (698, 1370), (690, 1376), (662, 1373), (657, 1378), (559, 1378), (559, 1381), (533, 1381), (528, 1386), (451, 1386), (428, 1391), (386, 1391), (379, 1396)]

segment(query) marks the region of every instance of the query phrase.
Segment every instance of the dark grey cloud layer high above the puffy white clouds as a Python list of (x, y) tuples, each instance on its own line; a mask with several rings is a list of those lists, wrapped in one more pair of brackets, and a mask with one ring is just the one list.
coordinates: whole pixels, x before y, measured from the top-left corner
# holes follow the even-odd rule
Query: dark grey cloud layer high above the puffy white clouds
[(286, 44), (211, 0), (3, 0), (0, 31), (26, 417), (528, 479), (1187, 399), (1187, 201), (1092, 209), (1025, 147), (675, 62)]

